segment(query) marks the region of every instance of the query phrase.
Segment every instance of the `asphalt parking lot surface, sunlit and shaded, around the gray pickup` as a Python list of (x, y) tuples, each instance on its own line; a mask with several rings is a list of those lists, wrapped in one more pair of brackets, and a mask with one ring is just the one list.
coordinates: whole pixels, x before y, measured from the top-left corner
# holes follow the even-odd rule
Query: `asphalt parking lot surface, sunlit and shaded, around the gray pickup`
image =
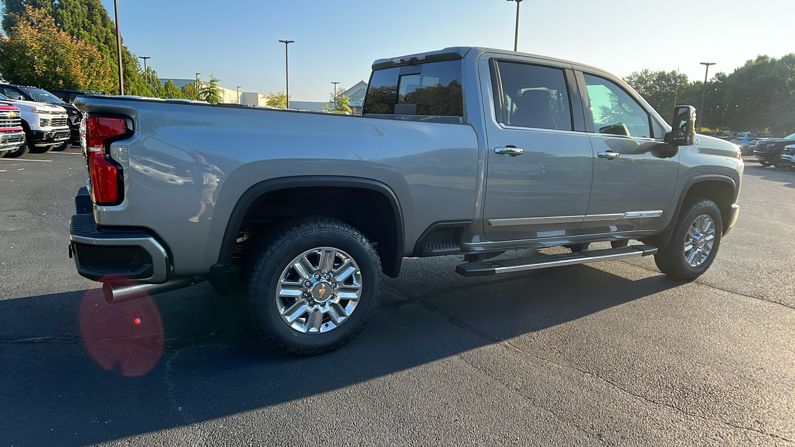
[[(795, 445), (795, 171), (747, 164), (696, 282), (648, 258), (485, 278), (406, 259), (359, 337), (301, 358), (206, 283), (104, 305), (67, 255), (77, 152), (0, 159), (2, 446)], [(130, 376), (84, 339), (136, 312), (165, 340)]]

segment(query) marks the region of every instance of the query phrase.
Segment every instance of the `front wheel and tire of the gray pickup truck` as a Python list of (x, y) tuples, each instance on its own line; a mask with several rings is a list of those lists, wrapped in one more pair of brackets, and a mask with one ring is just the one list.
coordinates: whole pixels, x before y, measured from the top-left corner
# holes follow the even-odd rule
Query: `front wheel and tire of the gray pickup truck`
[(695, 279), (718, 254), (723, 220), (718, 205), (703, 197), (688, 199), (679, 216), (668, 246), (657, 251), (654, 262), (671, 278)]

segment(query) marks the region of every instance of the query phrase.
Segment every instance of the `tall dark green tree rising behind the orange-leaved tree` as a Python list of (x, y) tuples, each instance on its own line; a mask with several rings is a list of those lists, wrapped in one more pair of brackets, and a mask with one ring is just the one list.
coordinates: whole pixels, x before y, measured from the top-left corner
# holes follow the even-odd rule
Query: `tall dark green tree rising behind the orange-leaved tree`
[[(41, 8), (53, 17), (59, 31), (97, 47), (103, 60), (110, 65), (111, 72), (118, 78), (116, 26), (101, 0), (3, 0), (3, 3), (5, 15), (2, 27), (6, 33), (17, 22), (17, 17), (25, 14), (25, 6)], [(122, 72), (125, 94), (152, 95), (151, 88), (141, 76), (138, 58), (123, 43)], [(118, 80), (115, 82), (118, 92)]]

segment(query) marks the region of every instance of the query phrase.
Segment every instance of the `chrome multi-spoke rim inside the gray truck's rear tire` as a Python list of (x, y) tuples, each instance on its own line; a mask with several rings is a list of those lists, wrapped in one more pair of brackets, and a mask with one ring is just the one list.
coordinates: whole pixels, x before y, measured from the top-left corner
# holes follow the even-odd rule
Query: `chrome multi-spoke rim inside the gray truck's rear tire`
[(359, 304), (362, 273), (350, 255), (318, 247), (296, 256), (281, 272), (276, 309), (281, 321), (301, 333), (342, 325)]

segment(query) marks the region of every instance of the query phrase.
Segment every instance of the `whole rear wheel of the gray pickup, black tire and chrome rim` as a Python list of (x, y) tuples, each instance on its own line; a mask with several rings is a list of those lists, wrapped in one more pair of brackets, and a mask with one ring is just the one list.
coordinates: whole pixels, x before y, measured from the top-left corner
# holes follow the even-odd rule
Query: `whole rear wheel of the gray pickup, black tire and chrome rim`
[(381, 261), (354, 227), (326, 217), (290, 220), (255, 255), (247, 297), (262, 335), (288, 352), (329, 352), (373, 313)]

